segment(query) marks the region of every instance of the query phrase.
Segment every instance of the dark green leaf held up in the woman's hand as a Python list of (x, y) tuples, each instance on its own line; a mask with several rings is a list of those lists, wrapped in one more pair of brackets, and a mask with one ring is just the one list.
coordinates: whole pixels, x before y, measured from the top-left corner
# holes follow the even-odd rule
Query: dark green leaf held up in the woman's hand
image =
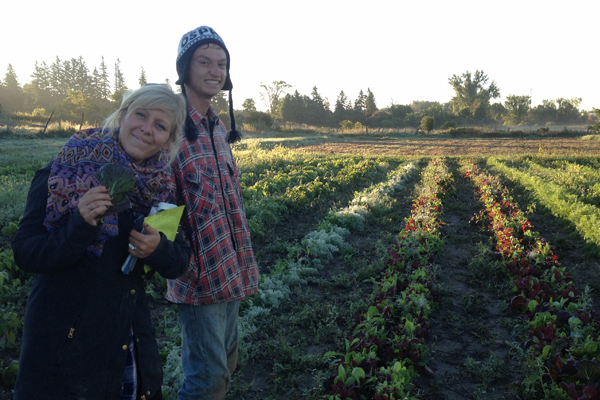
[(108, 194), (113, 197), (113, 206), (106, 214), (120, 213), (131, 207), (127, 192), (135, 186), (135, 174), (130, 168), (117, 163), (106, 164), (96, 172), (96, 178), (109, 188)]

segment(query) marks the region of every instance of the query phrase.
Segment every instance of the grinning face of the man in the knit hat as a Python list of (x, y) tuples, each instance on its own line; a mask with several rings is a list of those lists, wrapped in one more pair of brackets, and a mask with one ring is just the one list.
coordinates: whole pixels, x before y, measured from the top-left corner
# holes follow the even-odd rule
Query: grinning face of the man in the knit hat
[(188, 66), (186, 91), (200, 98), (218, 95), (227, 78), (227, 54), (214, 44), (202, 45), (194, 51)]

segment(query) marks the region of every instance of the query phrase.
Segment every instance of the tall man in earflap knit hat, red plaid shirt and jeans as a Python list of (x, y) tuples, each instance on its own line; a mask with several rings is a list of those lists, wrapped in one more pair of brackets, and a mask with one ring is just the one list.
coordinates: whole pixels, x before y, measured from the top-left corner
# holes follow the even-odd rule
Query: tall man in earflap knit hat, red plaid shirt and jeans
[[(193, 248), (185, 275), (169, 280), (177, 303), (185, 375), (179, 400), (225, 397), (237, 365), (240, 301), (258, 291), (258, 267), (244, 211), (239, 171), (230, 143), (240, 139), (231, 98), (230, 57), (221, 37), (201, 26), (177, 53), (178, 85), (188, 102), (185, 139), (173, 163), (183, 226)], [(211, 107), (229, 91), (231, 132)]]

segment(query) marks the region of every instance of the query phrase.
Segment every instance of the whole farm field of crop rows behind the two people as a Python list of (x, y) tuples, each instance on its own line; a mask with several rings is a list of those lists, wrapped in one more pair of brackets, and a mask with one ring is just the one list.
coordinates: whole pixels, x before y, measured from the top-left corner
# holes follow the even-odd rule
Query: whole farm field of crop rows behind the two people
[[(64, 141), (0, 138), (1, 399), (32, 279), (9, 242)], [(270, 133), (234, 153), (261, 283), (227, 399), (600, 398), (600, 141)]]

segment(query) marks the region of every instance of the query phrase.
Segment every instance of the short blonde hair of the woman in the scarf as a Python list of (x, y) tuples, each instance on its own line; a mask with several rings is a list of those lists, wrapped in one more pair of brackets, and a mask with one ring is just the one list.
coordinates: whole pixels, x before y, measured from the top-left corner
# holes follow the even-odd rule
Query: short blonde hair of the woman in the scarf
[(161, 110), (172, 118), (171, 131), (169, 132), (169, 149), (163, 153), (165, 162), (170, 164), (177, 153), (182, 141), (182, 127), (185, 122), (187, 105), (181, 94), (176, 94), (166, 83), (148, 83), (141, 88), (126, 92), (121, 106), (112, 113), (104, 122), (105, 129), (116, 130), (121, 121), (128, 118), (135, 110)]

